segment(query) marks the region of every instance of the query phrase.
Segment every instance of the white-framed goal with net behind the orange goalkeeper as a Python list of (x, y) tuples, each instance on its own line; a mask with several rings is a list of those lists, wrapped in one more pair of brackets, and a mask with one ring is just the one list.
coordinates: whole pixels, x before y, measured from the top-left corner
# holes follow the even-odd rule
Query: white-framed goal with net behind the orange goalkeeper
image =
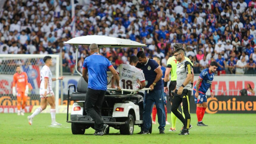
[[(50, 67), (53, 78), (59, 77), (60, 57), (56, 54), (48, 54), (52, 57), (53, 65)], [(12, 94), (13, 74), (16, 66), (21, 66), (21, 71), (27, 73), (29, 82), (29, 94), (26, 104), (28, 106), (40, 105), (40, 70), (44, 66), (42, 54), (0, 54), (0, 106), (16, 106), (16, 96)], [(52, 83), (55, 94), (56, 112), (59, 104), (59, 81)]]

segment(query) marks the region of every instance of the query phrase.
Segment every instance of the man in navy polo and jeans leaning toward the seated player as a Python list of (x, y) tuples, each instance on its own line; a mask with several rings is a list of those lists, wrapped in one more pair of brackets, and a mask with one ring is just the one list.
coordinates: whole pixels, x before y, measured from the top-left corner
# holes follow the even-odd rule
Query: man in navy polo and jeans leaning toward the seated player
[(146, 87), (151, 88), (149, 93), (145, 93), (144, 95), (143, 127), (142, 131), (138, 134), (149, 134), (151, 110), (154, 102), (157, 107), (157, 117), (160, 125), (158, 127), (159, 133), (164, 134), (166, 116), (164, 110), (163, 81), (161, 80), (163, 73), (157, 62), (147, 58), (143, 51), (139, 51), (137, 57), (139, 63), (136, 67), (141, 68), (145, 75)]

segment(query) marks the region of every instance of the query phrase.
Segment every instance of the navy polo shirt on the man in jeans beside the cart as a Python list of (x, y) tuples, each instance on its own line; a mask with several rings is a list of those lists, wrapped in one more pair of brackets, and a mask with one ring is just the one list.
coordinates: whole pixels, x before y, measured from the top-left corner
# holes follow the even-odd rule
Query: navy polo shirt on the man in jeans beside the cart
[[(145, 75), (146, 80), (146, 87), (149, 87), (155, 80), (157, 73), (154, 71), (157, 69), (159, 65), (155, 60), (148, 59), (146, 65), (143, 65), (141, 70), (143, 71)], [(161, 90), (163, 89), (163, 81), (160, 79), (156, 85), (154, 86), (154, 90)]]

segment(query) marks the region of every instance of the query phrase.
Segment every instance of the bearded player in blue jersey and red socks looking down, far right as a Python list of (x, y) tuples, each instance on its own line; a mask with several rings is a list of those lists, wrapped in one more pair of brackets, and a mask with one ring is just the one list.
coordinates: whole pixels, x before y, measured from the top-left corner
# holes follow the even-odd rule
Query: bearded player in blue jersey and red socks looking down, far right
[(194, 99), (196, 103), (196, 115), (198, 121), (197, 126), (207, 126), (202, 121), (205, 115), (205, 109), (207, 108), (207, 97), (205, 93), (210, 88), (211, 98), (214, 97), (212, 90), (212, 81), (217, 68), (218, 63), (215, 61), (211, 62), (210, 68), (206, 68), (200, 73), (199, 78), (196, 81), (196, 85), (193, 88)]

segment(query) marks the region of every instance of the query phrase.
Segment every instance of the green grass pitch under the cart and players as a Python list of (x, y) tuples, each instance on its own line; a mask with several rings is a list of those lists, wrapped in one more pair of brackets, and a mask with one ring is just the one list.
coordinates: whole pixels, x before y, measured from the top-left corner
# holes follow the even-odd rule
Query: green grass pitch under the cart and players
[[(50, 114), (39, 114), (30, 126), (25, 116), (16, 114), (0, 114), (1, 143), (255, 143), (255, 114), (205, 114), (205, 127), (196, 126), (196, 114), (191, 114), (193, 128), (190, 135), (180, 136), (182, 126), (177, 120), (177, 131), (169, 132), (171, 125), (166, 125), (165, 134), (158, 134), (158, 124), (153, 125), (152, 134), (139, 135), (138, 126), (134, 127), (133, 135), (121, 135), (119, 130), (110, 128), (110, 134), (92, 135), (94, 130), (87, 129), (84, 135), (73, 135), (71, 124), (66, 123), (65, 114), (57, 114), (60, 128), (49, 127)], [(168, 114), (171, 123), (171, 115)], [(115, 134), (118, 133), (118, 134)]]

